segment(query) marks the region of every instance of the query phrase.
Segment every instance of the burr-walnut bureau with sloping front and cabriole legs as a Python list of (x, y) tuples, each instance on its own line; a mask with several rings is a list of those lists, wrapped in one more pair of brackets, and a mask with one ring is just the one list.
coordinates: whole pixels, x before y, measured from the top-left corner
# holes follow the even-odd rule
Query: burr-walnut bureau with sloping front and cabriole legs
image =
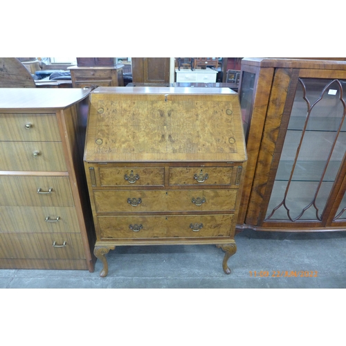
[(228, 88), (92, 91), (84, 167), (100, 276), (116, 246), (153, 244), (216, 244), (230, 273), (245, 165)]

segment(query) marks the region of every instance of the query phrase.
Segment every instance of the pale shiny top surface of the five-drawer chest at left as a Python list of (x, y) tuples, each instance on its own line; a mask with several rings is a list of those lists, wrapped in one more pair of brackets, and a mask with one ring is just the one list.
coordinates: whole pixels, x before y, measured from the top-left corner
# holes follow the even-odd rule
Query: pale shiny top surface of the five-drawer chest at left
[(90, 90), (71, 88), (1, 88), (0, 111), (64, 109), (89, 93)]

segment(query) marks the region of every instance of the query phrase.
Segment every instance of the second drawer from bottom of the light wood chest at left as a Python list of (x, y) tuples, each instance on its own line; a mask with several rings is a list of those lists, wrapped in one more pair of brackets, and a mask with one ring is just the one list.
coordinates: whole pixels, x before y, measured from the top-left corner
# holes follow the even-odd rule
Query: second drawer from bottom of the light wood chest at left
[(73, 207), (0, 207), (0, 233), (79, 233)]

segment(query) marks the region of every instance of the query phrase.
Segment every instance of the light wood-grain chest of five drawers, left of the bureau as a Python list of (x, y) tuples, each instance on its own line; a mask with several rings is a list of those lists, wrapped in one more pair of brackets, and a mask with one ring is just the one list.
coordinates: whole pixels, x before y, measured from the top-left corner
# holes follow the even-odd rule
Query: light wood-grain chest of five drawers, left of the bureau
[(93, 271), (89, 91), (0, 89), (0, 268)]

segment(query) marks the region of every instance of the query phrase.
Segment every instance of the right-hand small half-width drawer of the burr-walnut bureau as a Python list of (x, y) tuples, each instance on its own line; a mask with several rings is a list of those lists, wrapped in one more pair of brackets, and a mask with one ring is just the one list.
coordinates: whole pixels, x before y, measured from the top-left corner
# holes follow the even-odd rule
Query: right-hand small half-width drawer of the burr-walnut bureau
[(170, 185), (231, 185), (233, 167), (171, 167)]

